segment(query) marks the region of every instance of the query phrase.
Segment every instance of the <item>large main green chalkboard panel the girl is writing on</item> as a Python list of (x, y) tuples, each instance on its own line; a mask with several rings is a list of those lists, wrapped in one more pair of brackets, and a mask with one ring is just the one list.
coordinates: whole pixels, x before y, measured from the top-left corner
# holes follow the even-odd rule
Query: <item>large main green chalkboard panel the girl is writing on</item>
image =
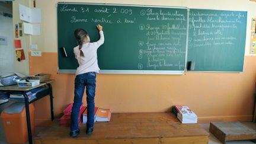
[[(98, 49), (101, 72), (184, 72), (187, 17), (187, 8), (59, 2), (59, 71), (73, 73), (78, 67), (73, 56), (73, 47), (77, 46), (73, 31), (84, 28), (91, 41), (97, 41), (96, 25), (101, 24), (105, 36)], [(65, 47), (68, 57), (62, 56), (60, 47)]]

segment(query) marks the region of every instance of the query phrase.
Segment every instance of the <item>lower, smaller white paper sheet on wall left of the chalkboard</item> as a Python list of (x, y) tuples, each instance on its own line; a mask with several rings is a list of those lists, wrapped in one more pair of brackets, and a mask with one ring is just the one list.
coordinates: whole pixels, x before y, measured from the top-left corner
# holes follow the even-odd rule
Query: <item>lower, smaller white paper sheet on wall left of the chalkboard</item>
[(24, 34), (40, 35), (40, 24), (30, 24), (23, 22)]

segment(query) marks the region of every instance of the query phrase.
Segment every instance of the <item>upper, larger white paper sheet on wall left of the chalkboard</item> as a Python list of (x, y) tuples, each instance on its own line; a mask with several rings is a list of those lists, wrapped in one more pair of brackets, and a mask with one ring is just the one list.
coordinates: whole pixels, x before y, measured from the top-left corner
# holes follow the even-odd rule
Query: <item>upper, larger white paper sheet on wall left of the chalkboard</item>
[(30, 23), (41, 23), (41, 9), (28, 8), (19, 4), (20, 8), (20, 20)]

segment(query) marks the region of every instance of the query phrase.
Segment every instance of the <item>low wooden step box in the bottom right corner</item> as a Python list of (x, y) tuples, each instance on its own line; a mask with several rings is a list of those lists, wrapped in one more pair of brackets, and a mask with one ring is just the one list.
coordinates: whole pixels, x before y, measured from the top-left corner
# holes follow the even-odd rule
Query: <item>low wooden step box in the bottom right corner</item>
[(222, 143), (231, 140), (256, 139), (256, 131), (240, 122), (212, 122), (210, 132)]

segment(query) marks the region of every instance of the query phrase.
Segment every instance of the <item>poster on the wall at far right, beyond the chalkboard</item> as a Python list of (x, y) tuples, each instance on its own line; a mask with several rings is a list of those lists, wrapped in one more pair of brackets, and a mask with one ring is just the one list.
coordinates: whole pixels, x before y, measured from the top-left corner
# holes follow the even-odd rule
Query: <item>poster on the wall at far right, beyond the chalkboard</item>
[(251, 42), (250, 42), (250, 54), (256, 54), (256, 18), (252, 18), (251, 21)]

